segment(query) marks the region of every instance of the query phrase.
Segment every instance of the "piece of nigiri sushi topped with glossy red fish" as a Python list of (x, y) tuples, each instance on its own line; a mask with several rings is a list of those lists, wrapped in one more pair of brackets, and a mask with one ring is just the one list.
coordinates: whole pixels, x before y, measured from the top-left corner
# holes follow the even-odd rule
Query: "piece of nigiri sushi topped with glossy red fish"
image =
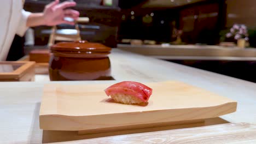
[(135, 81), (123, 81), (106, 88), (105, 93), (117, 103), (140, 104), (147, 103), (153, 89)]

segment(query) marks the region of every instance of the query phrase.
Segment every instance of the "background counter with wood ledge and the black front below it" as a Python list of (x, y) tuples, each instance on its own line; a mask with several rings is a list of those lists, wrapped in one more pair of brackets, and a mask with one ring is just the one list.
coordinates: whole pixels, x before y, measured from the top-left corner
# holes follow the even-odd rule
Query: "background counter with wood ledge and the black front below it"
[(254, 48), (118, 44), (118, 49), (256, 82), (256, 49)]

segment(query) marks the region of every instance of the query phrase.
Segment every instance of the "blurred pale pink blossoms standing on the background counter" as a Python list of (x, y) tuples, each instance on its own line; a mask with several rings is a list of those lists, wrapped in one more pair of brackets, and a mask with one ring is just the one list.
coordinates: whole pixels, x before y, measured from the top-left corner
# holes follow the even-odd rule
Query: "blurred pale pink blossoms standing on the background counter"
[(235, 24), (233, 27), (230, 28), (230, 32), (226, 34), (227, 38), (234, 37), (234, 39), (245, 39), (249, 40), (248, 38), (248, 31), (245, 25), (238, 25)]

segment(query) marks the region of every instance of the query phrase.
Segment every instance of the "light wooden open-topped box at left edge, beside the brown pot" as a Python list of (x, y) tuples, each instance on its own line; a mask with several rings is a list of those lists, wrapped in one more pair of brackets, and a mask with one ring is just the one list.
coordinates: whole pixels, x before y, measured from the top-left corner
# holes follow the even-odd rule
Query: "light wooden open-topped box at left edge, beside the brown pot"
[(35, 62), (0, 62), (0, 81), (34, 81)]

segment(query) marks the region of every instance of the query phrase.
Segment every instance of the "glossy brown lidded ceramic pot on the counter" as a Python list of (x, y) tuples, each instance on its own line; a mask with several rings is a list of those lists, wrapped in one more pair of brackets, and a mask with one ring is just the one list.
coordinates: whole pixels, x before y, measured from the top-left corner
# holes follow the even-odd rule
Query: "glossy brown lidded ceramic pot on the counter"
[(85, 40), (57, 43), (51, 46), (50, 80), (110, 80), (110, 50)]

